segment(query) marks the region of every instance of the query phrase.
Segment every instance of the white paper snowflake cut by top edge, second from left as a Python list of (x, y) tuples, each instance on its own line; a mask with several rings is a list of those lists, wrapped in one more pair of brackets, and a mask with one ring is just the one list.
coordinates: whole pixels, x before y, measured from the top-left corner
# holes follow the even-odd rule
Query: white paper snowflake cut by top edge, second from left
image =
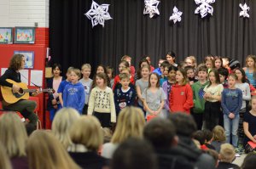
[(160, 14), (158, 5), (160, 1), (157, 0), (144, 0), (145, 8), (143, 14), (149, 14), (149, 18), (153, 18), (154, 14)]

